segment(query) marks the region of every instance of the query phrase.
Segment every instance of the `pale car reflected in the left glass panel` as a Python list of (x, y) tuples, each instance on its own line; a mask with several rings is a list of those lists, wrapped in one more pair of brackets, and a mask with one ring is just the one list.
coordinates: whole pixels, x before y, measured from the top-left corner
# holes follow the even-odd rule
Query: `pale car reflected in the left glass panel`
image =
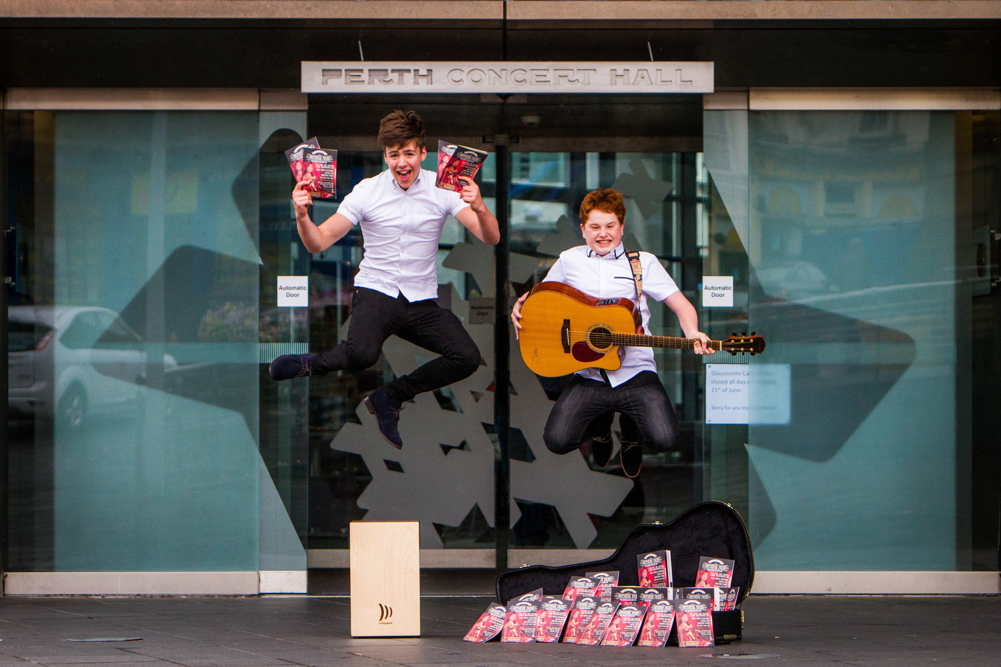
[[(8, 410), (55, 417), (70, 427), (135, 403), (146, 383), (142, 337), (96, 306), (11, 306), (7, 323)], [(163, 355), (164, 371), (177, 366)]]

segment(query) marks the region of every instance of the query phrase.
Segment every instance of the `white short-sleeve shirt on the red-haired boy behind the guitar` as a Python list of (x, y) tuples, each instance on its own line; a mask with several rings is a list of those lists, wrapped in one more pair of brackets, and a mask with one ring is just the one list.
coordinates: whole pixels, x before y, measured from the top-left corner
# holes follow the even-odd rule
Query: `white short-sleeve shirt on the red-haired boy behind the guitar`
[[(640, 299), (640, 314), (643, 316), (643, 329), (649, 334), (650, 308), (647, 307), (647, 297), (651, 296), (658, 301), (664, 301), (678, 291), (678, 286), (657, 257), (649, 252), (640, 253), (640, 266), (643, 269), (643, 297)], [(546, 275), (546, 280), (566, 283), (599, 299), (627, 298), (636, 303), (636, 281), (633, 279), (633, 269), (622, 244), (619, 244), (618, 248), (604, 257), (586, 245), (565, 250)], [(619, 370), (606, 371), (613, 387), (618, 387), (637, 373), (657, 372), (652, 348), (626, 347), (623, 349), (625, 350), (623, 365)], [(597, 368), (587, 368), (579, 371), (578, 375), (604, 382), (602, 374)]]

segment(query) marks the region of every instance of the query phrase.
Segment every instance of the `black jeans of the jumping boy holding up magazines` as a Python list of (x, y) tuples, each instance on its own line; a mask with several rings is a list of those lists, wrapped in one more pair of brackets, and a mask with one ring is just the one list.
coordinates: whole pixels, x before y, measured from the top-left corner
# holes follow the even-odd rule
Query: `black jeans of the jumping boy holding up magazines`
[(385, 385), (385, 393), (397, 401), (458, 382), (479, 367), (479, 349), (455, 315), (434, 299), (395, 299), (367, 287), (358, 287), (351, 297), (351, 324), (347, 340), (332, 350), (316, 355), (314, 372), (360, 371), (378, 361), (382, 343), (396, 335), (441, 356), (409, 375)]

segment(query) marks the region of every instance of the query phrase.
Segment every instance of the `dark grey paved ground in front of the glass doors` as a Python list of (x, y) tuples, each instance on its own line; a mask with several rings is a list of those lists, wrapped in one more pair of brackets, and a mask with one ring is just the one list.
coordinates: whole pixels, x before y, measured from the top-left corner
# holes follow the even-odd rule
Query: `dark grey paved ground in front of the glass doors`
[[(708, 649), (463, 642), (487, 602), (425, 597), (420, 637), (352, 639), (342, 597), (0, 598), (0, 667), (1001, 665), (998, 596), (752, 596), (744, 641)], [(110, 637), (141, 639), (67, 641)]]

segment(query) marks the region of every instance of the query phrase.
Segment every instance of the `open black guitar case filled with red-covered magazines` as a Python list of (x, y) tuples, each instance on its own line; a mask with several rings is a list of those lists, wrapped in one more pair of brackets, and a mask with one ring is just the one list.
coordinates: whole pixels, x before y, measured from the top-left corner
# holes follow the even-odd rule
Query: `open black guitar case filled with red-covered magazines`
[[(636, 557), (650, 551), (671, 551), (671, 567), (676, 588), (695, 586), (699, 557), (711, 556), (734, 561), (731, 586), (740, 586), (737, 609), (713, 612), (713, 632), (717, 644), (741, 641), (744, 612), (741, 604), (754, 584), (754, 554), (744, 519), (727, 503), (705, 502), (683, 512), (666, 524), (642, 524), (630, 531), (616, 552), (604, 560), (550, 567), (530, 565), (503, 572), (497, 577), (497, 602), (507, 605), (518, 595), (542, 588), (546, 595), (563, 595), (571, 577), (587, 572), (619, 571), (620, 586), (640, 584)], [(677, 626), (669, 644), (678, 644)]]

